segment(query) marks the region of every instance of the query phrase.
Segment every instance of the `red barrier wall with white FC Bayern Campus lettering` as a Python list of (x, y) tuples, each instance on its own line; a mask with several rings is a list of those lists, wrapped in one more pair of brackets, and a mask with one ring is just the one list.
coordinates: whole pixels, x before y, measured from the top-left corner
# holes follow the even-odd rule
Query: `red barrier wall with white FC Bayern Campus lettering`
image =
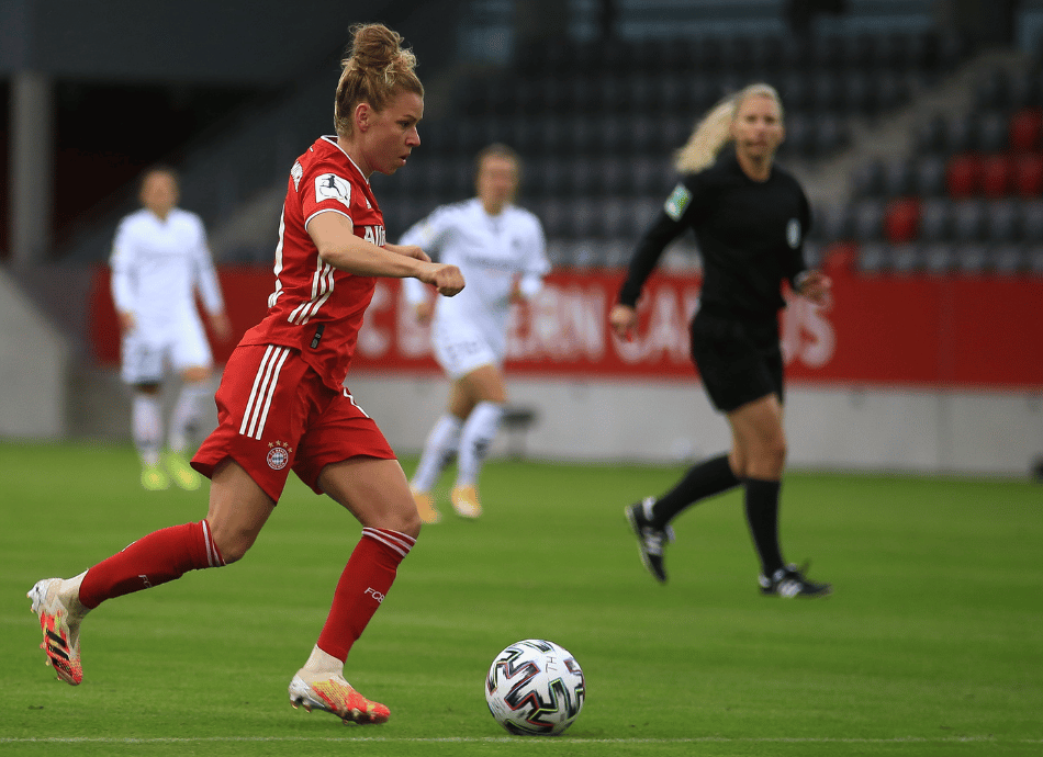
[[(1043, 388), (1043, 279), (863, 276), (831, 271), (835, 302), (825, 312), (794, 298), (782, 319), (794, 383), (918, 385), (938, 388)], [(227, 359), (260, 320), (272, 290), (267, 269), (222, 269), (236, 337), (216, 343)], [(687, 324), (699, 280), (657, 273), (639, 308), (633, 341), (609, 332), (619, 271), (556, 272), (540, 296), (517, 307), (507, 370), (520, 375), (692, 380)], [(103, 363), (119, 362), (109, 272), (93, 275), (90, 338)], [(435, 372), (427, 329), (403, 306), (399, 282), (382, 280), (359, 337), (355, 371)]]

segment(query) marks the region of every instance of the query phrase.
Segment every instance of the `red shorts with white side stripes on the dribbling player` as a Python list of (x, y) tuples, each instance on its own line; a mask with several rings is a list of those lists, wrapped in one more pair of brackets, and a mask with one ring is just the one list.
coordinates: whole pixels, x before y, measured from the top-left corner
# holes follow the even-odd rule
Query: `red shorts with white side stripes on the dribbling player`
[(326, 386), (289, 347), (237, 347), (214, 400), (217, 428), (192, 457), (192, 467), (210, 478), (221, 461), (232, 457), (277, 502), (290, 471), (322, 494), (318, 475), (330, 463), (395, 457), (348, 391)]

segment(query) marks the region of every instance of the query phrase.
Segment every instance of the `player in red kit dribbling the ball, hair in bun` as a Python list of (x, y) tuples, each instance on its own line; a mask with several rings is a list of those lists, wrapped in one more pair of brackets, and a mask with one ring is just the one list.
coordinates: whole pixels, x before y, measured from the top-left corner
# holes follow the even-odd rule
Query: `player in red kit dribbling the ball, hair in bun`
[(390, 715), (351, 688), (344, 663), (420, 521), (394, 452), (344, 382), (375, 276), (416, 278), (448, 296), (463, 289), (463, 278), (418, 247), (384, 241), (369, 177), (394, 173), (420, 144), (424, 87), (399, 34), (381, 24), (352, 31), (337, 86), (337, 134), (317, 139), (290, 170), (268, 315), (229, 358), (215, 397), (218, 427), (192, 460), (211, 478), (206, 518), (150, 533), (75, 578), (44, 579), (29, 592), (41, 646), (69, 683), (83, 677), (79, 629), (88, 611), (243, 557), (293, 470), (347, 508), (362, 538), (318, 641), (293, 676), (290, 701), (346, 723)]

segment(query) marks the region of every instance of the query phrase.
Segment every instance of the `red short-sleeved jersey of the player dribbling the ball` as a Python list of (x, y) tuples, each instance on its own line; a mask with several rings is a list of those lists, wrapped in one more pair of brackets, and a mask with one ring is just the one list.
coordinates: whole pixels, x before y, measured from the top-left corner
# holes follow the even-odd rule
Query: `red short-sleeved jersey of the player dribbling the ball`
[(369, 181), (336, 137), (328, 136), (316, 139), (290, 170), (276, 248), (276, 291), (268, 297), (268, 315), (239, 343), (295, 348), (339, 392), (375, 279), (339, 271), (318, 257), (306, 226), (324, 212), (346, 215), (356, 236), (383, 247), (384, 218)]

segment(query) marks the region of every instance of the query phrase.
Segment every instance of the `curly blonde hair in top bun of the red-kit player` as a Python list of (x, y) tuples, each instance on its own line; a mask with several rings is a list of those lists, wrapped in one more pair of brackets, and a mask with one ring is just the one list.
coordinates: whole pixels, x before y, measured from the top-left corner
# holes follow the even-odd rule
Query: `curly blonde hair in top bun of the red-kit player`
[(337, 136), (355, 131), (352, 114), (360, 102), (382, 111), (400, 93), (424, 97), (414, 69), (416, 56), (402, 46), (402, 36), (383, 24), (358, 24), (351, 27), (351, 48), (340, 61), (340, 81), (334, 102)]

